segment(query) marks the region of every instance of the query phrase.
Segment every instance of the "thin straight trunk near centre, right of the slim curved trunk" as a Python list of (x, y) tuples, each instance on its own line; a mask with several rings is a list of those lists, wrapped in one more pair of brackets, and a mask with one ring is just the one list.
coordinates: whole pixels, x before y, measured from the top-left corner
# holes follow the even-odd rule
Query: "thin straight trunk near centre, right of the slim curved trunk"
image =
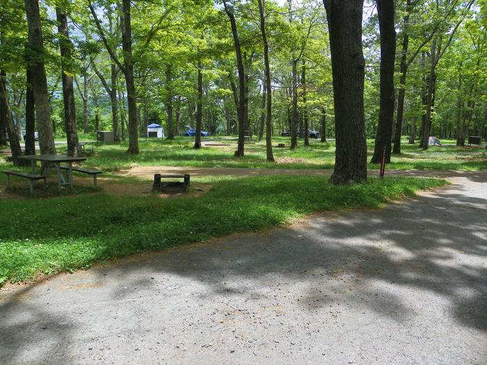
[(262, 33), (262, 42), (264, 43), (264, 72), (266, 76), (266, 86), (263, 93), (267, 93), (266, 109), (266, 161), (274, 162), (272, 152), (272, 85), (271, 85), (271, 67), (269, 65), (269, 43), (267, 42), (266, 21), (265, 21), (265, 0), (259, 0), (260, 13), (260, 33)]

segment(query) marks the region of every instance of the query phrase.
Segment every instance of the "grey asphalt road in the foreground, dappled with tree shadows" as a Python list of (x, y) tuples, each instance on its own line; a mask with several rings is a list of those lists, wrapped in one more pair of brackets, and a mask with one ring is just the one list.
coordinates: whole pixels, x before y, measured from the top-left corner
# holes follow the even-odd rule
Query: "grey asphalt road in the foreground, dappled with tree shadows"
[(0, 364), (487, 364), (487, 172), (4, 289)]

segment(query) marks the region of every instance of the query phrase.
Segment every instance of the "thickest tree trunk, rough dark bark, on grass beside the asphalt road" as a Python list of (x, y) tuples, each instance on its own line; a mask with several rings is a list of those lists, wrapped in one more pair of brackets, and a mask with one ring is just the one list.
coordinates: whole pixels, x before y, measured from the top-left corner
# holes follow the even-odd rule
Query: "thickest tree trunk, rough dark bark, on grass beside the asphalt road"
[(325, 0), (324, 4), (330, 35), (335, 101), (335, 171), (330, 181), (333, 184), (367, 181), (363, 0)]

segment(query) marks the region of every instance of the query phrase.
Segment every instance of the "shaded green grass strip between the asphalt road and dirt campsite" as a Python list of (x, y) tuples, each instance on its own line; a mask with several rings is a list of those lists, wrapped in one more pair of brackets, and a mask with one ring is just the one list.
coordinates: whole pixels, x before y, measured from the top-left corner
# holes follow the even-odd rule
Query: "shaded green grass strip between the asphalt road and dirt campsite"
[(0, 285), (88, 268), (146, 250), (289, 222), (315, 211), (376, 208), (440, 179), (369, 179), (334, 186), (319, 177), (215, 181), (201, 197), (116, 197), (104, 193), (3, 200)]

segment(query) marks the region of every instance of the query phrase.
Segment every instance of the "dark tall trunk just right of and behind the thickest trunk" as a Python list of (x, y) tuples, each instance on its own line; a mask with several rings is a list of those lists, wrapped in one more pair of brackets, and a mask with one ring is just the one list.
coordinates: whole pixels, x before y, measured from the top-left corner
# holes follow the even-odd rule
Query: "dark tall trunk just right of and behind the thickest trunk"
[[(392, 120), (394, 117), (394, 57), (396, 54), (394, 0), (378, 0), (377, 8), (381, 33), (381, 106), (378, 113), (374, 156), (370, 162), (380, 163), (385, 153), (385, 162), (390, 163)], [(401, 136), (399, 136), (399, 143), (400, 139)]]

